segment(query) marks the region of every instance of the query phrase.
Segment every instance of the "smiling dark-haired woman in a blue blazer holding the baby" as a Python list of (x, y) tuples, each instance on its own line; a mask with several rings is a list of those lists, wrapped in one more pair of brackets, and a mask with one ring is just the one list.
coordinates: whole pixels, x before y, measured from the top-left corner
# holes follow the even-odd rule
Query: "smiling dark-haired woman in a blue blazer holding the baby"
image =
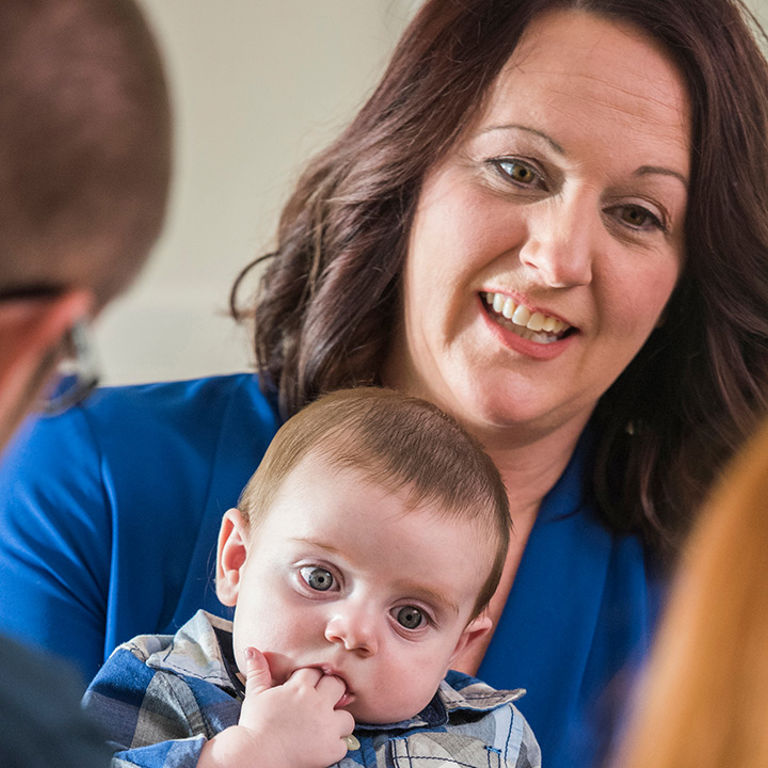
[(428, 2), (238, 313), (266, 394), (106, 391), (16, 449), (2, 626), (90, 675), (221, 611), (216, 526), (278, 414), (381, 382), (457, 416), (510, 492), (497, 629), (461, 668), (528, 689), (547, 765), (589, 764), (661, 563), (765, 406), (766, 105), (730, 0)]

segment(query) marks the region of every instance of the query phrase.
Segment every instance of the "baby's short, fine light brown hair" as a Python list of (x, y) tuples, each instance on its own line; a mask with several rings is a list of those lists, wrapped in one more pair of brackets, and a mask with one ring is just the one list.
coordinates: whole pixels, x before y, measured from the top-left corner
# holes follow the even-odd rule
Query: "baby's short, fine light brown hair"
[[(325, 395), (277, 432), (243, 490), (238, 508), (257, 526), (287, 475), (309, 454), (362, 472), (409, 506), (433, 502), (446, 520), (469, 520), (496, 545), (473, 617), (496, 591), (509, 545), (507, 493), (480, 443), (437, 406), (390, 389), (359, 387)], [(457, 553), (458, 555), (458, 553)]]

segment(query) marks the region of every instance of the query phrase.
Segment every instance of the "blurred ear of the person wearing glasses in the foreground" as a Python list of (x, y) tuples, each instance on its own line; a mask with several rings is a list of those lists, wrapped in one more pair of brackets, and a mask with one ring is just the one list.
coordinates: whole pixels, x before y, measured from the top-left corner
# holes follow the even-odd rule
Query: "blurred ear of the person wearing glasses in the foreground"
[(81, 290), (0, 301), (0, 448), (53, 371), (65, 334), (92, 304)]

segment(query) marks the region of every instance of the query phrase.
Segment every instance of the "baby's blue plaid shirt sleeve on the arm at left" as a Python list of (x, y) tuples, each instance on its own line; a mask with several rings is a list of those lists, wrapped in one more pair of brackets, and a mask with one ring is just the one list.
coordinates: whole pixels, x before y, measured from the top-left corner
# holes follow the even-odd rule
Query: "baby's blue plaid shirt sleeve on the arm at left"
[(105, 662), (83, 706), (106, 734), (113, 768), (194, 768), (213, 735), (185, 680), (149, 668), (130, 644)]

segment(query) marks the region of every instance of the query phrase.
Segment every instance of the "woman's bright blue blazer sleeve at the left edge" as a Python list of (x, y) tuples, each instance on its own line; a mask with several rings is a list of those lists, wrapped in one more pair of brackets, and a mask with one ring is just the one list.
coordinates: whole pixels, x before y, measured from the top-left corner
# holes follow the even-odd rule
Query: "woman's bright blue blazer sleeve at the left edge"
[(83, 680), (103, 660), (110, 529), (84, 414), (27, 425), (0, 469), (0, 632), (70, 659)]

